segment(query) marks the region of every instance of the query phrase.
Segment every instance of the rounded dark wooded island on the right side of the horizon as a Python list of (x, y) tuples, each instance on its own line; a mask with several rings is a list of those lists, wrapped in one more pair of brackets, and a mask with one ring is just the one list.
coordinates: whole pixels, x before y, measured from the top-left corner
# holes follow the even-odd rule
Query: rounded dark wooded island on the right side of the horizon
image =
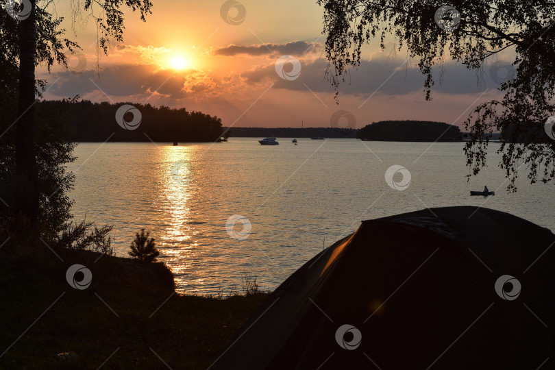
[(373, 141), (459, 141), (460, 129), (443, 122), (380, 121), (358, 130), (357, 138)]

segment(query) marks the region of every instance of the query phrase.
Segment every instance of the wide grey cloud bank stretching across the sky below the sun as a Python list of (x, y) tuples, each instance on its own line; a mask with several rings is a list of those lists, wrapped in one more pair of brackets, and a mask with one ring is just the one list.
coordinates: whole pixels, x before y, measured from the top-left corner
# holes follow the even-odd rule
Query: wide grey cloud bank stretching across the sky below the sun
[[(299, 47), (299, 49), (301, 49)], [(227, 90), (235, 93), (252, 88), (257, 84), (273, 82), (273, 88), (284, 90), (297, 90), (312, 93), (334, 93), (333, 86), (325, 80), (327, 62), (323, 59), (306, 60), (299, 58), (301, 71), (291, 80), (282, 77), (291, 75), (293, 64), (284, 64), (284, 73), (281, 76), (275, 71), (275, 60), (268, 64), (260, 64), (254, 69), (243, 73), (229, 73), (219, 82), (215, 82), (206, 72), (190, 69), (175, 73), (173, 70), (160, 70), (149, 64), (120, 64), (108, 66), (100, 73), (89, 70), (82, 73), (64, 71), (53, 73), (53, 78), (58, 79), (55, 86), (49, 89), (49, 94), (55, 97), (82, 97), (90, 95), (97, 90), (106, 93), (110, 99), (134, 96), (137, 99), (149, 97), (155, 91), (164, 95), (164, 99), (182, 99), (202, 95), (214, 97), (225, 94)], [(434, 71), (434, 86), (432, 93), (445, 93), (448, 95), (465, 95), (482, 93), (485, 88), (495, 91), (498, 84), (487, 77), (489, 69), (484, 68), (485, 85), (478, 84), (476, 71), (469, 71), (465, 66), (448, 62), (443, 66), (443, 81), (440, 81), (440, 71)], [(497, 69), (495, 69), (497, 71)], [(500, 73), (497, 73), (500, 75)], [(295, 78), (297, 77), (297, 78)], [(354, 95), (367, 99), (371, 94), (395, 97), (408, 95), (423, 90), (425, 76), (419, 69), (403, 63), (403, 60), (374, 59), (364, 60), (358, 69), (352, 69), (345, 75), (345, 82), (339, 88), (342, 95)], [(499, 79), (499, 78), (497, 78)], [(432, 95), (433, 96), (433, 95)]]

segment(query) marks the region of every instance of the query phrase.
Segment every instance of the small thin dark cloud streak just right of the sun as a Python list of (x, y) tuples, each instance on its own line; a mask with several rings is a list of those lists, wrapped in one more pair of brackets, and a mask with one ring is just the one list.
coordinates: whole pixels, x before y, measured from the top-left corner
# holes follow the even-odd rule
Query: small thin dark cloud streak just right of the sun
[(273, 56), (288, 55), (301, 56), (306, 53), (319, 51), (322, 45), (319, 43), (309, 43), (306, 41), (294, 41), (286, 44), (259, 44), (250, 46), (230, 45), (214, 49), (215, 56)]

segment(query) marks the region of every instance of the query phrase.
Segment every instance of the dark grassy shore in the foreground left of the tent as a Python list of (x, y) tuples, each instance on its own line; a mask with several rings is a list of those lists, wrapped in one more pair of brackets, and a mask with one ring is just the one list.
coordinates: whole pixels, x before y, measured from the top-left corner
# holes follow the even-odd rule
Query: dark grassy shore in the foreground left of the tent
[[(77, 263), (84, 290), (66, 281)], [(162, 263), (4, 245), (0, 369), (206, 369), (267, 296), (177, 295)]]

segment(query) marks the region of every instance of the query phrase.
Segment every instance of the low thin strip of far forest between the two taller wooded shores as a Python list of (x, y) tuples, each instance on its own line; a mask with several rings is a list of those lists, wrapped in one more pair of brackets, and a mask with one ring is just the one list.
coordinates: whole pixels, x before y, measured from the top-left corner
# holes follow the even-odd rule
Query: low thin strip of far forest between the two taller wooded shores
[(324, 138), (356, 138), (356, 129), (338, 127), (232, 127), (231, 136), (236, 138), (266, 138), (275, 136), (280, 138), (312, 138), (322, 136)]

